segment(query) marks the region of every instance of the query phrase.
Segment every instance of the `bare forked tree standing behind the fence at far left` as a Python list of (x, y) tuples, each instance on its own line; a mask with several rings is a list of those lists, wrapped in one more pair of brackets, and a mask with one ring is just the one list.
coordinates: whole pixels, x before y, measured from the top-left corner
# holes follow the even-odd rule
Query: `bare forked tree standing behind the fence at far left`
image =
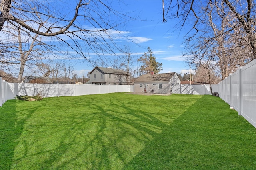
[[(40, 46), (38, 35), (31, 35), (24, 32), (20, 27), (10, 27), (8, 30), (2, 30), (0, 37), (0, 49), (4, 53), (0, 53), (1, 67), (16, 67), (18, 70), (18, 80), (22, 81), (22, 76), (26, 65), (34, 64), (34, 61), (40, 61), (43, 57), (43, 51)], [(29, 63), (29, 64), (28, 64)]]

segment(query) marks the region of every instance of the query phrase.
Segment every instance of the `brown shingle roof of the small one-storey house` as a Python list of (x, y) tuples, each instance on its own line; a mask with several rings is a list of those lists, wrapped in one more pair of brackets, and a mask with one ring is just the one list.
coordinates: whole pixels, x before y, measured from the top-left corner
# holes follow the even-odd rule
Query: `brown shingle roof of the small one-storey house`
[(163, 82), (170, 81), (175, 72), (161, 73), (161, 74), (144, 74), (137, 78), (135, 82)]

